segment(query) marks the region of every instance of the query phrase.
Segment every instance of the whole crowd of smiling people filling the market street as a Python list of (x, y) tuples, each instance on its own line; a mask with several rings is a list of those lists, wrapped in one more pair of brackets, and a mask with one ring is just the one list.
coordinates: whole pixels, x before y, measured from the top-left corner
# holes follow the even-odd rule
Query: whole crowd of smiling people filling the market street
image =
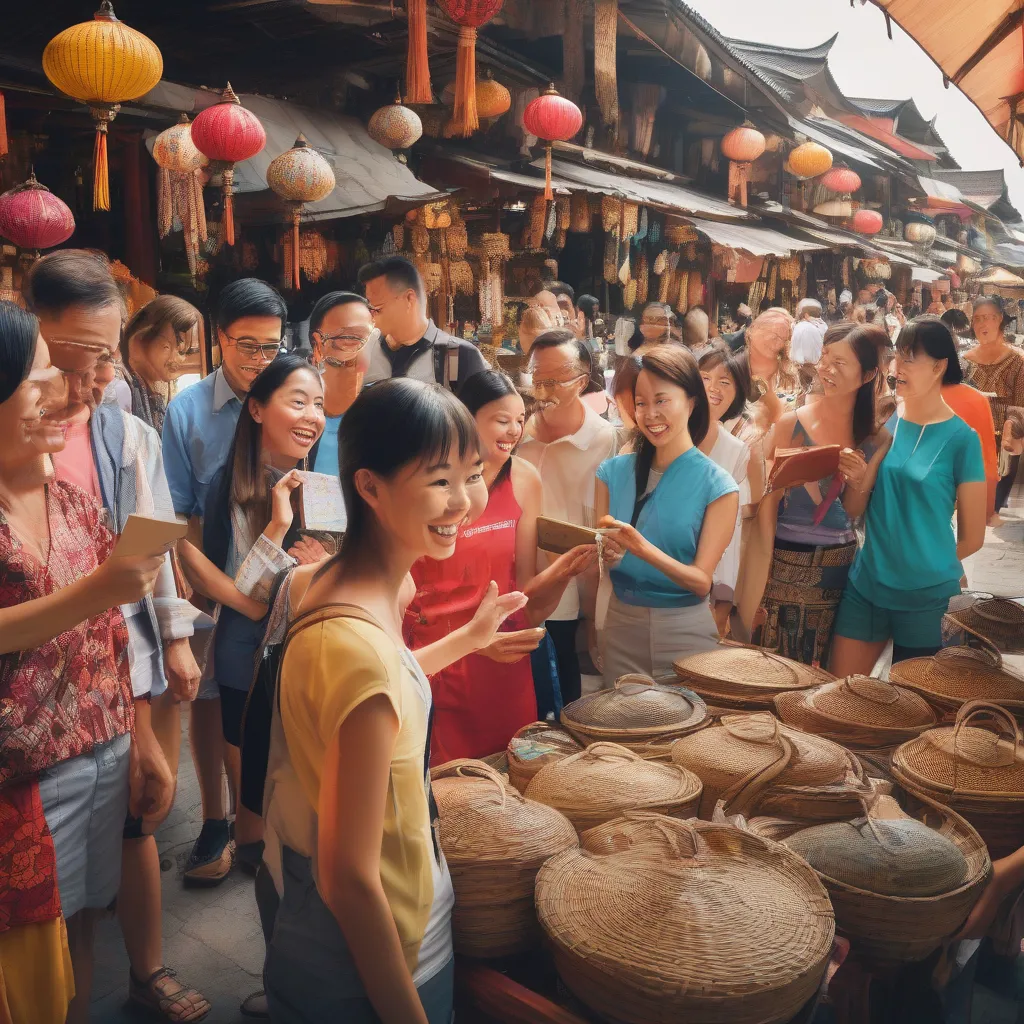
[[(838, 675), (890, 642), (934, 653), (964, 559), (1015, 507), (1024, 356), (995, 300), (963, 356), (948, 317), (885, 293), (870, 317), (805, 299), (722, 337), (652, 303), (605, 365), (596, 300), (552, 283), (513, 378), (428, 317), (409, 261), (358, 282), (290, 351), (278, 292), (230, 284), (219, 368), (169, 401), (187, 302), (126, 319), (105, 258), (63, 250), (27, 309), (0, 303), (3, 1024), (88, 1019), (114, 905), (132, 1002), (209, 1013), (161, 945), (182, 706), (184, 883), (255, 877), (265, 992), (243, 1012), (447, 1024), (431, 765), (504, 750), (584, 675), (669, 679), (723, 637)], [(772, 487), (780, 454), (822, 445), (838, 470)], [(308, 472), (340, 479), (343, 534), (304, 528)], [(131, 516), (188, 531), (119, 551)], [(546, 550), (551, 520), (579, 543)]]

